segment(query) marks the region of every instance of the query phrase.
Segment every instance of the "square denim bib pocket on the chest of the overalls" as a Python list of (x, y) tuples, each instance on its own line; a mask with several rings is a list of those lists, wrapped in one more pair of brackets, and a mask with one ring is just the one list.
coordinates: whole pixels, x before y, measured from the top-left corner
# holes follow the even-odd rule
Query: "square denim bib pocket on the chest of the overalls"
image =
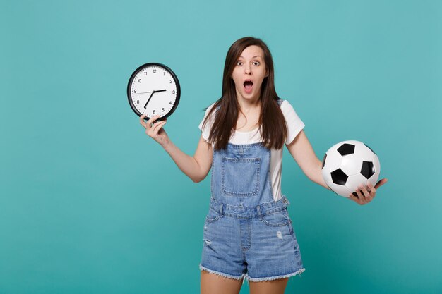
[(260, 165), (261, 158), (222, 157), (222, 192), (231, 196), (257, 195)]

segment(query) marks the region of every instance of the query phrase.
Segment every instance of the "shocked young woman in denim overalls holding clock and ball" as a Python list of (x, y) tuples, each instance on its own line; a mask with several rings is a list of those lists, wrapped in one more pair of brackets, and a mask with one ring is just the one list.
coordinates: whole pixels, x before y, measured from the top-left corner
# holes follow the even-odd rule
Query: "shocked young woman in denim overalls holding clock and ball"
[[(304, 123), (275, 91), (273, 59), (261, 39), (244, 37), (227, 52), (222, 97), (210, 105), (193, 157), (167, 136), (167, 122), (140, 123), (195, 183), (212, 169), (210, 209), (205, 218), (201, 256), (201, 293), (239, 293), (242, 281), (251, 294), (284, 293), (287, 280), (304, 271), (297, 238), (280, 191), (282, 147), (306, 176), (328, 189), (304, 133)], [(358, 204), (369, 203), (376, 189), (360, 187)]]

